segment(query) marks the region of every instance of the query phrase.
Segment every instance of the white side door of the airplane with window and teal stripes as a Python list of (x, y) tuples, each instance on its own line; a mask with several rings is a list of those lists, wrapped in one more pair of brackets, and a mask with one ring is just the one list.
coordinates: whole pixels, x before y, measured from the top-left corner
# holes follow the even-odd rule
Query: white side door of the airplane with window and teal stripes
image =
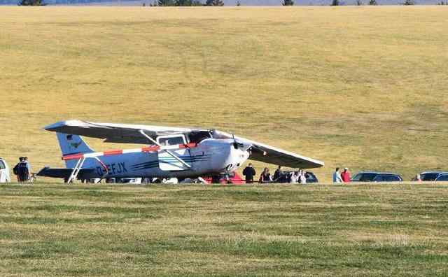
[[(178, 145), (178, 144), (186, 144), (185, 136), (183, 135), (174, 135), (174, 136), (159, 136), (157, 141), (160, 145)], [(192, 159), (190, 155), (190, 149), (177, 149), (177, 150), (169, 150), (172, 154), (176, 155), (183, 160), (189, 166), (192, 166)], [(188, 166), (181, 163), (178, 159), (170, 155), (167, 151), (160, 150), (159, 151), (159, 168), (163, 171), (181, 171), (187, 170)]]

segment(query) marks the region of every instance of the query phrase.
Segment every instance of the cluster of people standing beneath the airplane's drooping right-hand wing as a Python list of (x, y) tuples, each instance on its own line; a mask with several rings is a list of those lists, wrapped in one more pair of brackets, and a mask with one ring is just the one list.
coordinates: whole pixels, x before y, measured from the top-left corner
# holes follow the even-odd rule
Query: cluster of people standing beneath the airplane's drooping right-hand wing
[[(253, 168), (253, 164), (248, 164), (243, 170), (243, 175), (246, 178), (246, 184), (253, 183), (253, 178), (256, 175), (256, 171)], [(304, 170), (298, 170), (293, 172), (283, 172), (281, 166), (279, 166), (274, 175), (272, 176), (269, 172), (269, 168), (265, 167), (260, 178), (258, 178), (258, 183), (307, 183), (307, 172)]]

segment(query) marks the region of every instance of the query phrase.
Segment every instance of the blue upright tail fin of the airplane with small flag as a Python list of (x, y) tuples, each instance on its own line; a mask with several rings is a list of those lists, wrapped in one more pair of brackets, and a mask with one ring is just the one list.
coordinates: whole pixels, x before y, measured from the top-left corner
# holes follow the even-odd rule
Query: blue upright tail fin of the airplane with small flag
[[(62, 155), (72, 155), (79, 153), (94, 152), (87, 143), (78, 135), (56, 133), (59, 146), (61, 147)], [(73, 168), (76, 160), (68, 160), (65, 162), (67, 168)]]

